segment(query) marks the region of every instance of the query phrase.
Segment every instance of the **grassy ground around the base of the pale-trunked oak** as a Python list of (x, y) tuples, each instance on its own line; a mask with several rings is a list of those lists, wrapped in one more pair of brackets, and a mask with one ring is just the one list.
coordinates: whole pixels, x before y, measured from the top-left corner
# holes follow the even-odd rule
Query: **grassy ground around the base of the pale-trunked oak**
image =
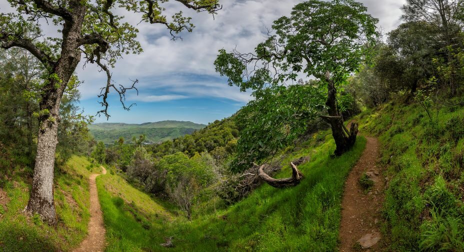
[(38, 216), (22, 213), (29, 199), (31, 169), (16, 167), (1, 188), (9, 202), (0, 217), (0, 251), (70, 251), (78, 246), (86, 236), (89, 220), (88, 176), (95, 172), (86, 167), (91, 167), (86, 158), (73, 156), (55, 171), (56, 227), (44, 224)]

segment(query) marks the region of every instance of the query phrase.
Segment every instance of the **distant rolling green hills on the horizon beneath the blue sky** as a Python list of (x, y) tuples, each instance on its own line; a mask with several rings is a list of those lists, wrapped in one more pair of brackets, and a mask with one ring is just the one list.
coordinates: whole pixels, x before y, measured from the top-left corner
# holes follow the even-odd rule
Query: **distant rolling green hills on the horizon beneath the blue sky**
[(142, 124), (95, 123), (89, 125), (88, 128), (96, 141), (111, 144), (118, 140), (119, 137), (123, 137), (126, 142), (130, 142), (132, 137), (140, 135), (145, 135), (147, 142), (166, 141), (191, 134), (205, 126), (193, 122), (160, 121)]

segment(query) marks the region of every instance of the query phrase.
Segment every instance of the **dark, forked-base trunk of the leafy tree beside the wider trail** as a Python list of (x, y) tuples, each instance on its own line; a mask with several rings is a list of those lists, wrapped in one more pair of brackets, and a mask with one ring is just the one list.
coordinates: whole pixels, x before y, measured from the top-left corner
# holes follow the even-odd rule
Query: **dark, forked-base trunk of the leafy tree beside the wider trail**
[(330, 79), (329, 73), (326, 73), (325, 80), (327, 81), (328, 89), (327, 101), (325, 105), (328, 107), (329, 116), (322, 118), (324, 118), (325, 121), (330, 124), (333, 140), (335, 140), (336, 145), (334, 154), (336, 156), (340, 156), (353, 147), (358, 132), (357, 123), (351, 123), (349, 131), (345, 128), (343, 124), (343, 118), (338, 112), (335, 83), (332, 79)]

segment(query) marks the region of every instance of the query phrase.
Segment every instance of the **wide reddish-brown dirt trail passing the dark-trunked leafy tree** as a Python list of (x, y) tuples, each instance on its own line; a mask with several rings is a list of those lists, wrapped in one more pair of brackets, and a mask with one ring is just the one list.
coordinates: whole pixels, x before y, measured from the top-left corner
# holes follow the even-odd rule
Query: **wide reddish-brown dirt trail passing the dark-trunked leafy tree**
[[(377, 165), (378, 140), (372, 137), (366, 139), (365, 150), (345, 182), (341, 202), (340, 252), (381, 250), (377, 223), (380, 220), (385, 179), (381, 167)], [(359, 178), (364, 172), (374, 182), (368, 193), (359, 185)]]

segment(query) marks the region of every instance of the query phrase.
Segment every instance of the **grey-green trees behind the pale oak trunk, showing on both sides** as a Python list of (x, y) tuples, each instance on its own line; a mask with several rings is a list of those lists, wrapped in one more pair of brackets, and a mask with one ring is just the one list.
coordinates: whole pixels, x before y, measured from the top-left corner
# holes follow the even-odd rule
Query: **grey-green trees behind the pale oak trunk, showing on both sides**
[[(15, 155), (29, 159), (33, 164), (38, 131), (39, 97), (42, 80), (41, 66), (34, 57), (20, 49), (0, 51), (0, 143)], [(77, 106), (79, 81), (73, 77), (64, 91), (59, 110), (56, 161), (64, 164), (71, 155), (87, 155), (91, 137), (84, 117)], [(22, 155), (23, 153), (27, 155)], [(0, 176), (4, 173), (0, 169)]]

